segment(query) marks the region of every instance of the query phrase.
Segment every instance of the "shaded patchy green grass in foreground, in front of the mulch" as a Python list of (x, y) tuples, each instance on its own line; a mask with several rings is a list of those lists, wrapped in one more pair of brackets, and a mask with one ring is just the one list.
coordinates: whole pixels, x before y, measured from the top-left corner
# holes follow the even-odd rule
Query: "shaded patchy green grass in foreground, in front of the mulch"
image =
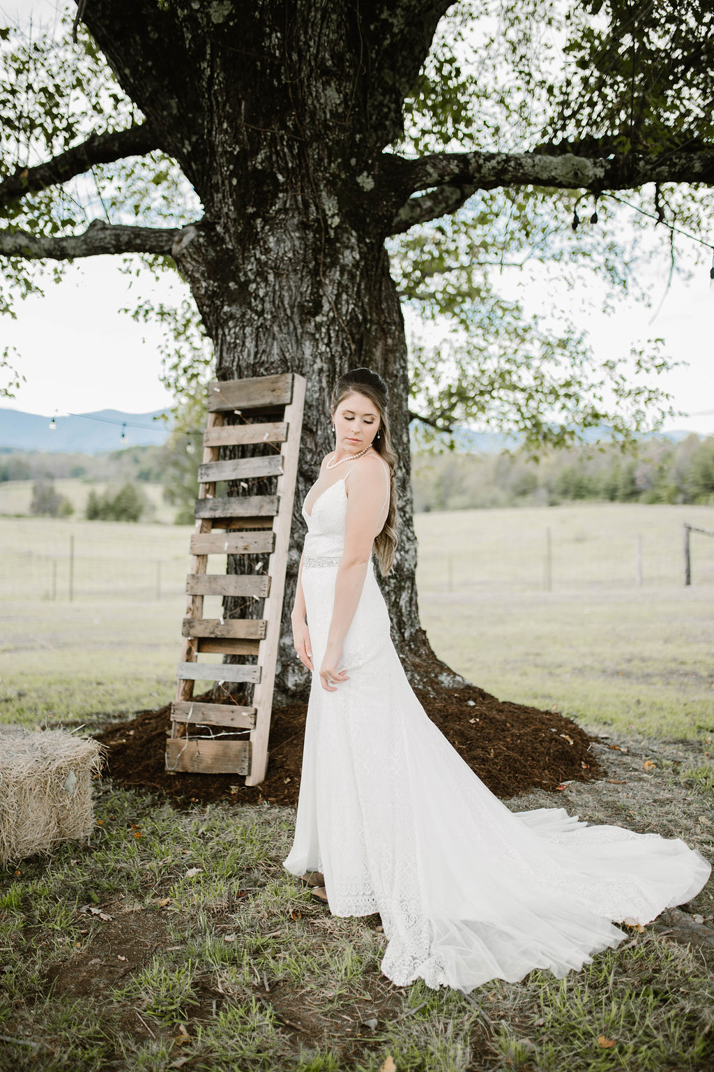
[[(687, 1072), (714, 1060), (711, 976), (666, 937), (633, 930), (564, 980), (533, 972), (468, 997), (395, 988), (376, 918), (330, 917), (283, 872), (290, 812), (176, 813), (105, 787), (96, 818), (89, 846), (0, 878), (3, 1068), (379, 1072), (391, 1055), (399, 1072)], [(131, 970), (116, 979), (122, 961)]]

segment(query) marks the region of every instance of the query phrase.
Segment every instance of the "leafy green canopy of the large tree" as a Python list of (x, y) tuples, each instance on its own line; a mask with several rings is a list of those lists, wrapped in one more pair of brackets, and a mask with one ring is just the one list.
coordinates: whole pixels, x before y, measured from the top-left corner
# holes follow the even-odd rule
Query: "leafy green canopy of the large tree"
[[(91, 6), (109, 32), (112, 5)], [(197, 53), (192, 36), (207, 32), (236, 47), (228, 24), (249, 19), (247, 5), (206, 6), (202, 24), (172, 0), (135, 4), (134, 32), (161, 34), (174, 59)], [(633, 265), (651, 254), (654, 225), (611, 192), (627, 191), (664, 224), (707, 234), (709, 5), (393, 0), (356, 8), (368, 26), (371, 85), (367, 92), (355, 84), (355, 96), (371, 93), (382, 109), (375, 121), (380, 175), (367, 168), (356, 181), (382, 203), (388, 189), (405, 191), (385, 228), (392, 271), (414, 319), (434, 325), (410, 347), (410, 411), (424, 418), (422, 430), (485, 419), (537, 447), (602, 423), (626, 434), (656, 422), (666, 411), (654, 385), (667, 368), (660, 346), (597, 362), (575, 298), (568, 310), (534, 313), (511, 281), (562, 277), (567, 265), (574, 284), (588, 272), (607, 279), (611, 299), (637, 289)], [(76, 42), (74, 12), (59, 33), (1, 33), (5, 315), (75, 257), (117, 253), (138, 271), (136, 256), (126, 255), (139, 254), (141, 271), (172, 271), (182, 228), (210, 214), (196, 175), (141, 109), (134, 76), (122, 75), (116, 58), (108, 64), (101, 32), (85, 29), (85, 9), (77, 8)], [(256, 12), (264, 15), (261, 5)], [(329, 57), (320, 61), (329, 81)], [(176, 73), (167, 78), (183, 102), (184, 133), (206, 138), (197, 87)], [(156, 111), (171, 107), (168, 94), (155, 100)], [(622, 237), (625, 218), (634, 241)], [(659, 229), (669, 243), (673, 233)], [(187, 287), (177, 280), (174, 301), (141, 301), (132, 312), (166, 325), (165, 376), (186, 413), (213, 363)]]

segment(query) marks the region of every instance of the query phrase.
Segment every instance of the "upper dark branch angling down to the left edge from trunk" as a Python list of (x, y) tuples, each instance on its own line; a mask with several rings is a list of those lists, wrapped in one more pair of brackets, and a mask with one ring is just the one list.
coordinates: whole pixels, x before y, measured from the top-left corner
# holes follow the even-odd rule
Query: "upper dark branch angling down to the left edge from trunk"
[(82, 175), (94, 164), (111, 164), (124, 157), (143, 157), (157, 148), (158, 138), (148, 122), (124, 131), (92, 134), (82, 145), (73, 146), (44, 164), (24, 167), (3, 179), (0, 182), (0, 205), (66, 182), (75, 175)]

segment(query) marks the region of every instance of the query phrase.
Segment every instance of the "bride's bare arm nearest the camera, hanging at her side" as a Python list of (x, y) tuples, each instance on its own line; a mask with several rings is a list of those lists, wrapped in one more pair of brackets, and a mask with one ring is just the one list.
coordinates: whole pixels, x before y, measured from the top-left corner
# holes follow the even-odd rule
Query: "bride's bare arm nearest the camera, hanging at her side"
[[(380, 474), (378, 466), (382, 470)], [(335, 580), (335, 601), (328, 634), (328, 645), (320, 668), (322, 687), (334, 693), (333, 681), (349, 681), (344, 670), (337, 670), (343, 642), (356, 611), (367, 565), (375, 541), (377, 523), (384, 505), (384, 463), (378, 460), (356, 464), (349, 474), (345, 549)]]

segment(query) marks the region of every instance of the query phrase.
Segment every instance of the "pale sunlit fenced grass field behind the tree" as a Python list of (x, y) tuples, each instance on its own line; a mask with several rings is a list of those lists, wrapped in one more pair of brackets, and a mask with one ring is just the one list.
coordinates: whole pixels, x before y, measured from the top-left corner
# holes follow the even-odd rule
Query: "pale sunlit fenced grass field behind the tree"
[[(685, 589), (684, 521), (714, 527), (714, 508), (419, 515), (423, 624), (441, 658), (501, 699), (555, 705), (593, 728), (674, 738), (711, 732), (714, 539), (693, 536), (694, 583)], [(166, 702), (189, 533), (0, 518), (2, 717), (95, 719)]]

